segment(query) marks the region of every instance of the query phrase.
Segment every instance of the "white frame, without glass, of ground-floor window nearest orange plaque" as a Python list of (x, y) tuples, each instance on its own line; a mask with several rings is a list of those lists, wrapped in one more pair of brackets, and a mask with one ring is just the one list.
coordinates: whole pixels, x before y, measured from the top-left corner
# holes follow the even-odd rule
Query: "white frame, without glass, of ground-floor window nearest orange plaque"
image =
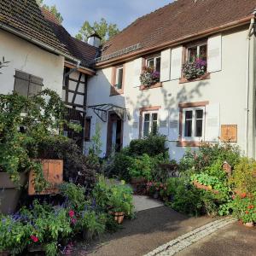
[[(202, 110), (203, 111), (203, 118), (202, 118), (202, 135), (201, 137), (196, 137), (195, 136), (195, 121), (196, 121), (196, 116), (195, 112), (196, 110)], [(204, 140), (205, 137), (205, 130), (206, 130), (206, 107), (195, 107), (195, 108), (183, 108), (183, 130), (182, 130), (182, 141), (190, 141), (190, 142), (198, 142), (201, 140)], [(185, 127), (186, 127), (186, 112), (187, 111), (192, 111), (192, 131), (191, 131), (191, 137), (185, 137)]]

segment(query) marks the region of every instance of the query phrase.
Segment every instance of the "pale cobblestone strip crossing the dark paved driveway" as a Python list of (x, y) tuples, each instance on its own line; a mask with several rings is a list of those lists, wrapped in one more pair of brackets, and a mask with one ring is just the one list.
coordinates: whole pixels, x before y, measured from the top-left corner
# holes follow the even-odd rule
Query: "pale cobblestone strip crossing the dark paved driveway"
[(183, 236), (178, 236), (176, 239), (167, 242), (166, 244), (156, 248), (154, 251), (145, 254), (144, 256), (171, 256), (189, 247), (201, 238), (211, 235), (216, 230), (222, 229), (225, 226), (236, 222), (235, 218), (220, 218), (209, 224), (201, 226)]

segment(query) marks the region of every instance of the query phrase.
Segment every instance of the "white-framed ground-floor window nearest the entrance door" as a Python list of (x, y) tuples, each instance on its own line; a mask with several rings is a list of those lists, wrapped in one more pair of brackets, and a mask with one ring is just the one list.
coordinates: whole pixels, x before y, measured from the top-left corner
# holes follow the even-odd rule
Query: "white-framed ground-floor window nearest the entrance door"
[(143, 137), (148, 137), (150, 133), (154, 135), (158, 131), (158, 113), (144, 112), (143, 113)]

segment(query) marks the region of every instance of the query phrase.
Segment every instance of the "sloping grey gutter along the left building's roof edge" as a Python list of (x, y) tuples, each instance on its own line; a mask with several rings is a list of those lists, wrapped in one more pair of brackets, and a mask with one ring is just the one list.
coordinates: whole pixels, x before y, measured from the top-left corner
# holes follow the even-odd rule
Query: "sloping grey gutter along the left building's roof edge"
[(10, 32), (10, 33), (14, 34), (15, 36), (18, 36), (19, 38), (23, 38), (23, 39), (31, 42), (32, 44), (36, 44), (36, 45), (38, 45), (38, 46), (40, 46), (40, 47), (42, 47), (44, 49), (47, 49), (48, 51), (53, 52), (56, 55), (61, 55), (61, 56), (65, 57), (67, 60), (75, 61), (75, 62), (78, 63), (78, 65), (80, 63), (79, 59), (74, 58), (71, 55), (67, 55), (67, 54), (63, 53), (61, 50), (56, 49), (55, 47), (51, 47), (48, 44), (44, 44), (44, 43), (42, 43), (41, 41), (39, 41), (39, 40), (37, 40), (35, 38), (26, 36), (25, 34), (15, 30), (14, 28), (11, 28), (9, 26), (3, 25), (2, 23), (0, 23), (0, 28), (2, 28), (3, 30), (5, 30), (7, 32)]

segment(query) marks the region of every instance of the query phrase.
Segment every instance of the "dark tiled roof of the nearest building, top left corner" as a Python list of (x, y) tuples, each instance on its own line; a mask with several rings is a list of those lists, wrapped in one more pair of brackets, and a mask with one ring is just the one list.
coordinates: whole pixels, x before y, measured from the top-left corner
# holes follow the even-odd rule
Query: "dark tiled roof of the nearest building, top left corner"
[(44, 20), (36, 0), (0, 0), (0, 24), (70, 55)]

